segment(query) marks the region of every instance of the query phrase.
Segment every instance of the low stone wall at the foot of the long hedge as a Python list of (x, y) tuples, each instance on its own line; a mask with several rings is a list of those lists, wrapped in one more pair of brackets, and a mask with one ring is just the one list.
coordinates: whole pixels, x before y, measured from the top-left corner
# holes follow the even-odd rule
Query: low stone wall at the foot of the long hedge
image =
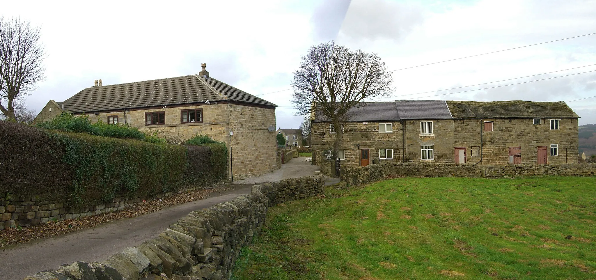
[(134, 206), (143, 200), (169, 197), (196, 189), (200, 189), (200, 187), (164, 192), (154, 196), (116, 197), (111, 203), (85, 207), (67, 207), (63, 200), (44, 200), (42, 195), (15, 195), (0, 192), (0, 231), (15, 226), (39, 225), (50, 220), (76, 219), (77, 217), (110, 213)]

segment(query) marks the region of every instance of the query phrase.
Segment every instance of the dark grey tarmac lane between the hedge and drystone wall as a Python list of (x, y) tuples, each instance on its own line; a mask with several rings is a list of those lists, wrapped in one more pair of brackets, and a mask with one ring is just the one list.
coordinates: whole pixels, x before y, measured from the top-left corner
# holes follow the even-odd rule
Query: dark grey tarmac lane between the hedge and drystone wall
[(36, 239), (0, 249), (0, 279), (22, 280), (42, 270), (77, 261), (101, 262), (126, 247), (157, 237), (170, 224), (191, 211), (248, 194), (252, 186), (239, 185), (230, 191), (190, 203), (82, 229), (57, 237)]

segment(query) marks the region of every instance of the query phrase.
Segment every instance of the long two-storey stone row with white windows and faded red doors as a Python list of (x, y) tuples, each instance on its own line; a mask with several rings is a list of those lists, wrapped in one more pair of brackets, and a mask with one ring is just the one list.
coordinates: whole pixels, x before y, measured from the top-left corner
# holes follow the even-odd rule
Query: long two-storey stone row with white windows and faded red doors
[[(324, 165), (336, 129), (313, 112), (313, 162)], [(343, 123), (340, 164), (577, 163), (578, 116), (564, 102), (367, 102)]]

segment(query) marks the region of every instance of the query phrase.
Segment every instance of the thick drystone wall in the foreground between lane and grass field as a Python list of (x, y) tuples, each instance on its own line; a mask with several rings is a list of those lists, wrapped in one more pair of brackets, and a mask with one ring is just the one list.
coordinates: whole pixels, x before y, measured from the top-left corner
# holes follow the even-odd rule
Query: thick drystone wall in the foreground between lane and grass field
[(321, 195), (323, 185), (320, 176), (255, 185), (250, 194), (193, 211), (159, 237), (126, 248), (104, 262), (75, 262), (25, 279), (229, 279), (240, 248), (261, 231), (269, 207)]

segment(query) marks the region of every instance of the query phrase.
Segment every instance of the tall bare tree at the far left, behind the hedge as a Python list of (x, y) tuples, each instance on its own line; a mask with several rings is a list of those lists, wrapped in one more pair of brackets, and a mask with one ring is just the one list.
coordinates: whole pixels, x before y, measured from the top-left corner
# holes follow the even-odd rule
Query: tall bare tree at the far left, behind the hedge
[(0, 17), (0, 111), (16, 120), (15, 101), (36, 89), (44, 79), (44, 45), (41, 29), (29, 21)]

